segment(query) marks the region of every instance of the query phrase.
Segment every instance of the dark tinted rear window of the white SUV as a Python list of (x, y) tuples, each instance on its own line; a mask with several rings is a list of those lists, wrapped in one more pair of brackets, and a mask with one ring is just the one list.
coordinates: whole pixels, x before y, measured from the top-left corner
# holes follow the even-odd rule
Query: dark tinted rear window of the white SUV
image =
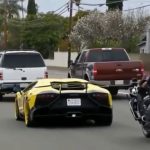
[(5, 54), (2, 61), (2, 67), (5, 68), (31, 68), (44, 66), (44, 61), (38, 53)]

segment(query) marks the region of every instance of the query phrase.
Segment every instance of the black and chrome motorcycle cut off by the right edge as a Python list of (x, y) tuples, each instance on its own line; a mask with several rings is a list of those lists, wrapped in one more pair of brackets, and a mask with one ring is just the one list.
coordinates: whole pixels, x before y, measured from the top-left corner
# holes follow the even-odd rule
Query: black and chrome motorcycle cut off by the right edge
[(138, 84), (133, 83), (129, 89), (130, 110), (134, 119), (141, 125), (144, 136), (150, 138), (150, 90), (147, 90), (143, 98), (138, 91)]

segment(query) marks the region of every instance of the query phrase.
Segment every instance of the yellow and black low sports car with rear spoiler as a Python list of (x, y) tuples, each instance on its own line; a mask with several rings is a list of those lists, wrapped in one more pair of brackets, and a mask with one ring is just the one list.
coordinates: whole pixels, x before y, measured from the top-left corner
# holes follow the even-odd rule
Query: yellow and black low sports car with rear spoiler
[(108, 90), (76, 78), (40, 79), (24, 90), (16, 87), (16, 120), (33, 126), (39, 119), (91, 119), (111, 125), (112, 97)]

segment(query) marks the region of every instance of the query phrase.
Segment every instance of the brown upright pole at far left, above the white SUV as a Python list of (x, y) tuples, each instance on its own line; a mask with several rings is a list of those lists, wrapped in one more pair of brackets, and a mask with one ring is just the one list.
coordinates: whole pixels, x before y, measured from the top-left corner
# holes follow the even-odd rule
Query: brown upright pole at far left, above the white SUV
[(4, 0), (4, 49), (7, 48), (7, 0)]

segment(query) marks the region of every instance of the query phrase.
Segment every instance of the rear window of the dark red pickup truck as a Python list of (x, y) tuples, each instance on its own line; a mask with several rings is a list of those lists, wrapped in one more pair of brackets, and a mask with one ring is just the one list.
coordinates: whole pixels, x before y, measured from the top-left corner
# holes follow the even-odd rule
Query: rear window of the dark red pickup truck
[(124, 50), (92, 50), (89, 52), (87, 62), (103, 61), (128, 61), (128, 55)]

